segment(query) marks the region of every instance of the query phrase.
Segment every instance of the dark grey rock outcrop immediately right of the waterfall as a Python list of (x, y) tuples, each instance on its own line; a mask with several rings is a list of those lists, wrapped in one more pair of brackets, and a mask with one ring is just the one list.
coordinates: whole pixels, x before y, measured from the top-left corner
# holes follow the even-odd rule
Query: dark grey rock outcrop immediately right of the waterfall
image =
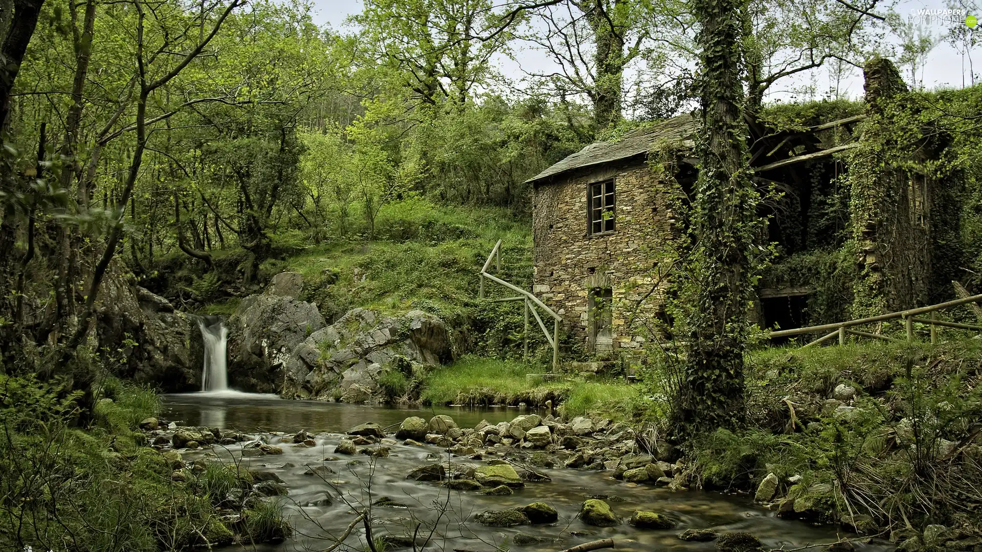
[(229, 319), (229, 382), (270, 393), (283, 382), (291, 352), (327, 322), (317, 306), (298, 299), (302, 277), (284, 272), (262, 294), (246, 297)]

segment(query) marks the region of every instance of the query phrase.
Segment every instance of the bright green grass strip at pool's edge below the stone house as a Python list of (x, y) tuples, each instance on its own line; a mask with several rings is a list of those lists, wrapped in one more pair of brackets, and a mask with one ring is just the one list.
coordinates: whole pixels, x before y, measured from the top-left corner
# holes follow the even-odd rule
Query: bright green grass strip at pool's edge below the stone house
[(628, 414), (639, 392), (623, 381), (586, 381), (570, 376), (543, 381), (528, 374), (550, 371), (540, 365), (465, 356), (423, 379), (420, 400), (425, 404), (543, 406), (552, 401), (568, 417), (602, 412), (612, 417)]

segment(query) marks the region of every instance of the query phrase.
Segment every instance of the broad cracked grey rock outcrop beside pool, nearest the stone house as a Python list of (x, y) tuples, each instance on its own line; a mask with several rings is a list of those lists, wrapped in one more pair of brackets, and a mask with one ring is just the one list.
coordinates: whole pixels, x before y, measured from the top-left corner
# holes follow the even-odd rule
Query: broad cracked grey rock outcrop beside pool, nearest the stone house
[(453, 359), (442, 319), (421, 310), (382, 316), (355, 308), (334, 324), (316, 329), (284, 355), (283, 395), (348, 403), (381, 399), (378, 378), (385, 370), (411, 374), (413, 364)]

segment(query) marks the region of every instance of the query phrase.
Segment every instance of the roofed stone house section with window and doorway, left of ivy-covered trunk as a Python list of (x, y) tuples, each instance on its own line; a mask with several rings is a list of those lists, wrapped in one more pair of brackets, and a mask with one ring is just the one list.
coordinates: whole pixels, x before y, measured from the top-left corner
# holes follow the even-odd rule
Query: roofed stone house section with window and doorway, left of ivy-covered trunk
[(696, 130), (692, 115), (675, 117), (590, 144), (528, 181), (532, 293), (556, 307), (587, 351), (638, 349), (640, 325), (661, 315), (667, 280), (653, 259), (675, 233), (673, 204), (695, 170), (663, 179), (648, 153), (657, 144), (690, 151)]

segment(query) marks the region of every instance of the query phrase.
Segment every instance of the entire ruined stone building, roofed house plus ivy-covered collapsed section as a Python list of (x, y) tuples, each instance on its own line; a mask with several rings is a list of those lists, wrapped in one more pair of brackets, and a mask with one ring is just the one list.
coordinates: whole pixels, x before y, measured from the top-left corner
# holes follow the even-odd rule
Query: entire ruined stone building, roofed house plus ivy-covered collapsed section
[[(770, 192), (760, 207), (763, 242), (779, 251), (751, 313), (762, 327), (865, 315), (871, 298), (880, 311), (925, 304), (927, 283), (947, 277), (931, 268), (931, 251), (952, 232), (950, 221), (938, 222), (952, 218), (938, 212), (951, 206), (933, 200), (946, 184), (888, 167), (898, 160), (881, 143), (889, 129), (877, 94), (905, 87), (882, 61), (868, 64), (865, 104), (805, 106), (780, 130), (748, 121), (754, 180)], [(697, 132), (698, 120), (685, 114), (590, 144), (528, 181), (532, 291), (586, 351), (638, 349), (654, 335), (652, 320), (667, 321), (673, 266), (664, 253), (685, 247), (677, 219), (693, 198)], [(910, 158), (924, 159), (937, 147), (915, 149)], [(846, 248), (854, 252), (837, 256)], [(819, 266), (825, 259), (840, 264)]]

